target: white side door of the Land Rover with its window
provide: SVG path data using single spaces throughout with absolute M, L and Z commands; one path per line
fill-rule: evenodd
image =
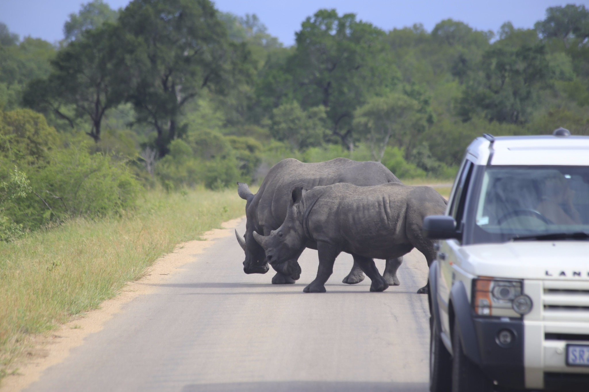
M 458 232 L 462 232 L 464 229 L 466 196 L 471 183 L 473 169 L 474 163 L 466 158 L 457 177 L 458 182 L 456 183 L 452 199 L 450 200 L 451 204 L 449 206 L 448 215 L 454 217 L 456 220 L 456 229 Z M 449 329 L 448 303 L 450 290 L 452 289 L 452 284 L 454 284 L 455 280 L 453 266 L 456 263 L 456 257 L 458 257 L 458 250 L 461 244 L 461 240 L 458 239 L 441 240 L 440 251 L 438 253 L 438 304 L 442 333 L 446 334 L 446 337 L 448 338 L 451 336 Z

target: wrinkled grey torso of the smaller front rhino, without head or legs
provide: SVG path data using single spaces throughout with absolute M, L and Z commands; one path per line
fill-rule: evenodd
M 306 225 L 314 240 L 376 259 L 408 252 L 423 217 L 445 208 L 434 189 L 401 183 L 318 187 L 303 202 L 305 208 L 312 206 Z

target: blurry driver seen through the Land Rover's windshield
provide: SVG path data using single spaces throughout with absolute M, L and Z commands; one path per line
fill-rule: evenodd
M 542 200 L 536 210 L 557 225 L 581 225 L 581 217 L 573 204 L 575 192 L 560 173 L 545 179 Z

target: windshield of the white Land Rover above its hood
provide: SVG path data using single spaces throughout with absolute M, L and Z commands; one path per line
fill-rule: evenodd
M 474 243 L 589 233 L 589 167 L 487 167 Z

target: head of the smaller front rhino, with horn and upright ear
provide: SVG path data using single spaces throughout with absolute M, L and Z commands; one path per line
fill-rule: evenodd
M 303 211 L 300 203 L 303 193 L 302 187 L 292 190 L 286 219 L 278 229 L 270 232 L 269 236 L 253 233 L 254 240 L 266 252 L 266 262 L 272 266 L 281 266 L 287 260 L 296 259 L 305 250 L 307 239 L 303 229 Z

